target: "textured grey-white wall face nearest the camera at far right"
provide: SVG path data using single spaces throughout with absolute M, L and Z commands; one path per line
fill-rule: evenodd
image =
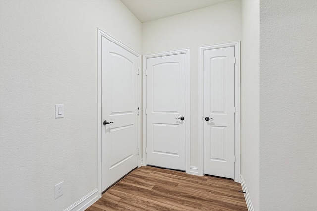
M 317 1 L 260 1 L 260 210 L 317 208 Z

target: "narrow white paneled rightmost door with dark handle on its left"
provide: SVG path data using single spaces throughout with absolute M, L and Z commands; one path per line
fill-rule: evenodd
M 204 174 L 234 178 L 234 47 L 205 50 Z

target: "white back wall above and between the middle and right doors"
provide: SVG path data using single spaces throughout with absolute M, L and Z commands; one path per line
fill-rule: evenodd
M 241 40 L 240 0 L 142 24 L 142 53 L 190 48 L 191 166 L 199 166 L 199 46 Z

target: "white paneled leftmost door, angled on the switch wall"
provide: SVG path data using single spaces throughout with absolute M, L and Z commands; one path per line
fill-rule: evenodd
M 103 191 L 138 165 L 138 57 L 101 39 Z

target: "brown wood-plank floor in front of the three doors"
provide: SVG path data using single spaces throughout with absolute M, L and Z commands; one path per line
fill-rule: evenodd
M 248 211 L 233 180 L 140 167 L 86 211 Z

